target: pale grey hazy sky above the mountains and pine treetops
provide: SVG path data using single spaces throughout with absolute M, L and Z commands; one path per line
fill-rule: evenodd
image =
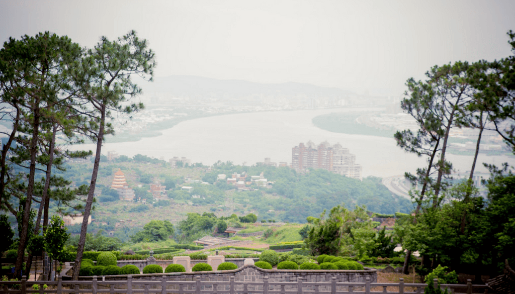
M 81 46 L 134 29 L 156 76 L 305 82 L 400 95 L 433 65 L 510 55 L 515 1 L 0 1 L 0 41 Z

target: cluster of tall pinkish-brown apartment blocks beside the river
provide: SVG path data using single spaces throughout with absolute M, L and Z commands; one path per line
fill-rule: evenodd
M 291 149 L 291 168 L 323 168 L 347 178 L 363 180 L 362 166 L 356 164 L 356 155 L 340 144 L 331 146 L 325 141 L 316 146 L 311 140 Z

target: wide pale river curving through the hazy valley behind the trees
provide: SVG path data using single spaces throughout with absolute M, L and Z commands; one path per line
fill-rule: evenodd
M 218 160 L 252 165 L 270 158 L 272 162 L 291 163 L 291 148 L 311 140 L 315 144 L 340 143 L 356 155 L 363 166 L 363 176 L 390 177 L 415 172 L 425 165 L 424 158 L 406 153 L 387 137 L 333 133 L 315 127 L 312 118 L 325 113 L 374 111 L 374 108 L 342 108 L 299 111 L 229 114 L 186 120 L 163 131 L 161 136 L 138 142 L 106 143 L 102 154 L 116 151 L 132 157 L 144 154 L 168 160 L 186 157 L 193 163 L 212 165 Z M 75 149 L 75 148 L 74 148 Z M 77 149 L 95 150 L 93 144 Z M 470 170 L 471 156 L 449 154 L 449 160 L 460 174 Z M 487 172 L 481 163 L 515 165 L 515 157 L 479 155 L 476 171 Z

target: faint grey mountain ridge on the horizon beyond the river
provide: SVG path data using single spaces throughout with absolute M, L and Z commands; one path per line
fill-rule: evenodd
M 198 76 L 173 75 L 157 77 L 154 82 L 144 84 L 144 92 L 169 93 L 178 96 L 228 95 L 242 97 L 251 95 L 306 96 L 311 98 L 343 98 L 352 94 L 337 88 L 318 87 L 312 84 L 287 82 L 280 84 L 256 83 L 244 80 L 218 80 Z

